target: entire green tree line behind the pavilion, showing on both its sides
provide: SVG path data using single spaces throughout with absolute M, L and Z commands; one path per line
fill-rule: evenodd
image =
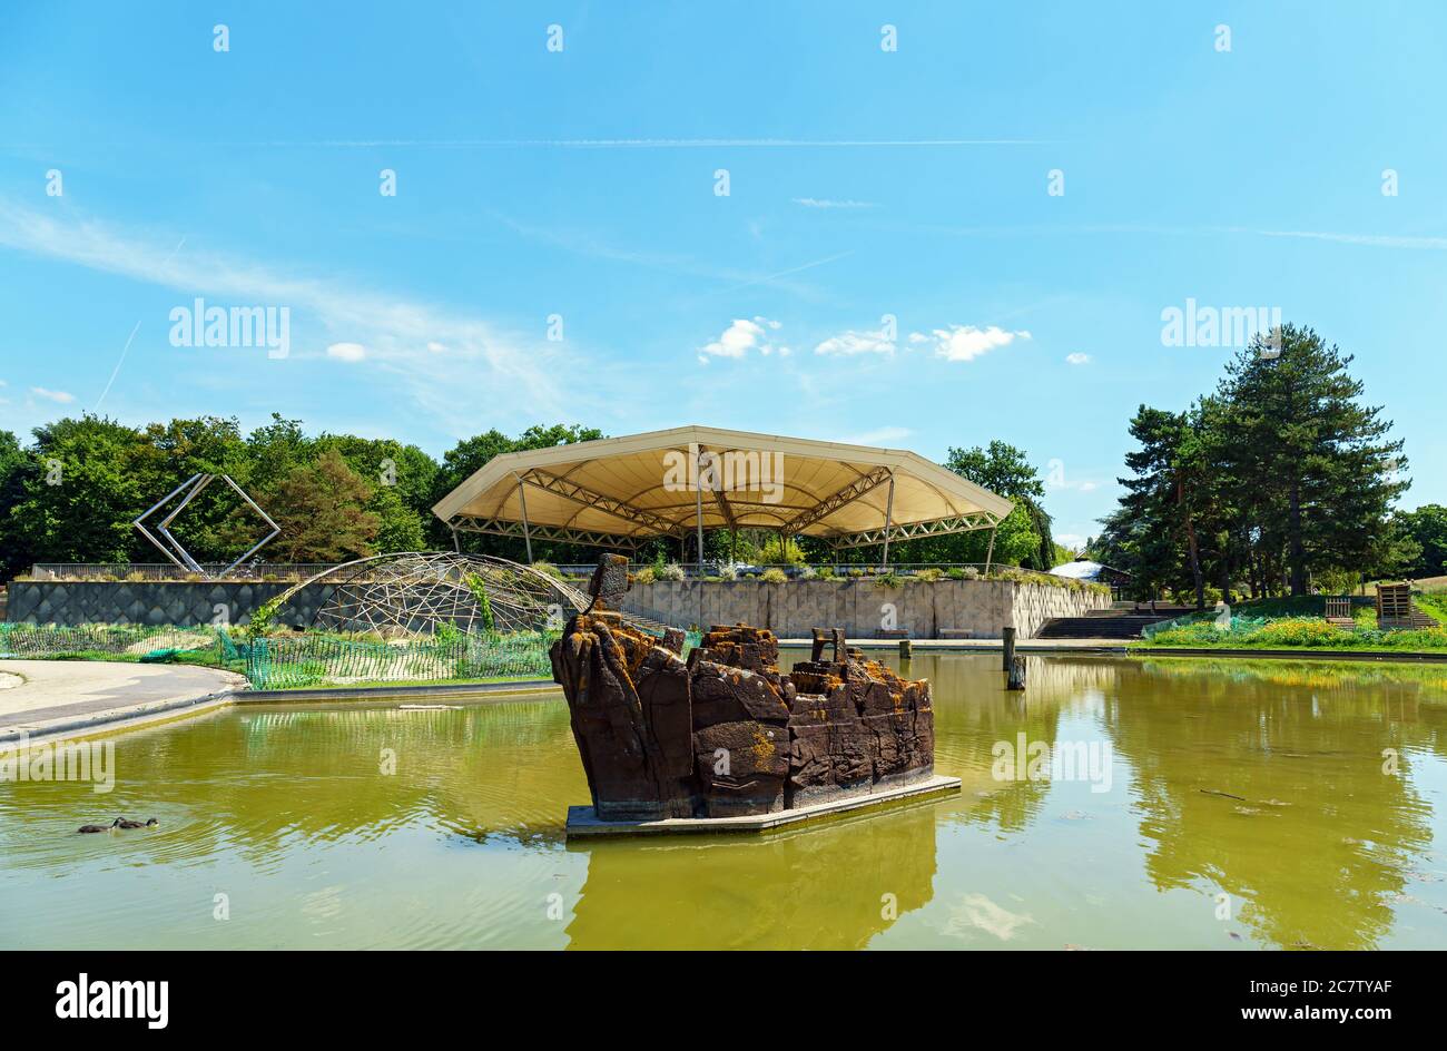
M 38 427 L 33 440 L 0 431 L 0 572 L 4 578 L 36 562 L 159 562 L 162 554 L 132 523 L 195 473 L 230 475 L 281 526 L 258 557 L 269 562 L 343 562 L 379 552 L 453 546 L 433 504 L 499 453 L 544 449 L 605 437 L 593 427 L 535 426 L 517 437 L 489 430 L 459 442 L 441 460 L 414 444 L 355 434 L 308 436 L 300 420 L 272 415 L 243 433 L 234 418 L 197 417 L 130 427 L 96 415 Z M 946 466 L 1011 497 L 991 557 L 1000 565 L 1048 569 L 1066 557 L 1051 539 L 1045 486 L 1023 452 L 1003 442 L 951 449 Z M 172 504 L 174 505 L 174 504 Z M 224 485 L 213 484 L 177 518 L 172 531 L 198 562 L 230 562 L 263 534 L 263 524 Z M 464 552 L 525 557 L 511 537 L 460 534 Z M 988 533 L 926 537 L 893 544 L 896 562 L 984 562 Z M 586 563 L 598 550 L 535 540 L 540 560 Z M 877 549 L 841 553 L 874 562 Z M 641 560 L 692 560 L 692 531 L 648 543 Z M 705 557 L 776 562 L 828 560 L 822 541 L 803 537 L 784 549 L 764 530 L 739 537 L 713 530 Z

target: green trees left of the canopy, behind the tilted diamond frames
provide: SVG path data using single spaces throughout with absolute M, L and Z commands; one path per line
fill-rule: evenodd
M 161 562 L 132 523 L 194 473 L 230 475 L 281 526 L 258 557 L 341 562 L 378 552 L 450 549 L 433 504 L 502 452 L 603 437 L 589 427 L 496 430 L 459 442 L 438 463 L 391 439 L 302 431 L 272 415 L 243 434 L 234 418 L 198 417 L 129 427 L 96 415 L 58 420 L 22 446 L 0 431 L 0 572 L 35 562 Z M 172 504 L 174 505 L 174 504 Z M 230 562 L 265 534 L 263 523 L 213 484 L 172 531 L 198 562 Z M 522 541 L 464 536 L 464 550 L 522 557 Z M 553 546 L 540 557 L 587 559 Z

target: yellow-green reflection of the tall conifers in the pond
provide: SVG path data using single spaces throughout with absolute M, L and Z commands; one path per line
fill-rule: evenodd
M 1441 685 L 1305 662 L 1159 660 L 1124 678 L 1104 718 L 1133 766 L 1152 882 L 1218 887 L 1273 945 L 1376 947 L 1434 858 L 1412 767 L 1440 747 Z

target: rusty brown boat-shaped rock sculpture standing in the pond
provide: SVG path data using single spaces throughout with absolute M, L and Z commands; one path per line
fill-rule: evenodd
M 622 596 L 612 563 L 592 591 L 551 657 L 601 819 L 770 814 L 933 774 L 929 683 L 838 628 L 816 628 L 787 675 L 773 633 L 745 624 L 712 628 L 684 663 L 680 633 L 658 640 L 606 608 Z

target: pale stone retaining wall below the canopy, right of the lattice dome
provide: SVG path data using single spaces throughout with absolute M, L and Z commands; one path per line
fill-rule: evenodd
M 699 588 L 703 589 L 702 621 Z M 658 581 L 635 583 L 624 607 L 670 624 L 752 624 L 780 638 L 807 638 L 816 627 L 841 627 L 854 638 L 998 638 L 1011 624 L 1032 638 L 1052 617 L 1079 617 L 1110 607 L 1091 591 L 1013 581 Z

